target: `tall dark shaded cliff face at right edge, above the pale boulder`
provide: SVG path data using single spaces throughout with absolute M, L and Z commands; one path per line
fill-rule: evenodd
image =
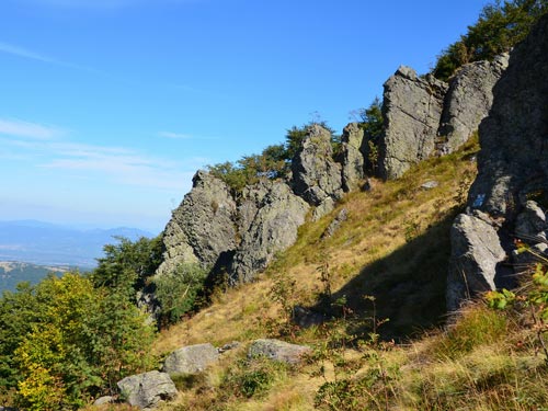
M 493 90 L 493 106 L 480 125 L 478 178 L 469 198 L 504 216 L 515 214 L 527 195 L 548 191 L 548 16 L 510 56 Z

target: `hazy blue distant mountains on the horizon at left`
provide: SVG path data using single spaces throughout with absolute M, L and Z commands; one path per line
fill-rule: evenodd
M 0 221 L 0 261 L 92 269 L 115 237 L 153 237 L 136 228 L 78 229 L 37 220 Z

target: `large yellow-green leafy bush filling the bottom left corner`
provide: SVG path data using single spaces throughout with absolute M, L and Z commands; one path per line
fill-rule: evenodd
M 153 334 L 140 311 L 78 273 L 4 294 L 0 323 L 2 383 L 23 409 L 78 409 L 151 364 Z

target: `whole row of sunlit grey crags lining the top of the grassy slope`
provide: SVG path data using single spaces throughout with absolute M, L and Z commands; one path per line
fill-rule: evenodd
M 380 175 L 398 178 L 413 163 L 464 144 L 487 115 L 491 89 L 505 61 L 500 57 L 467 65 L 449 83 L 400 67 L 385 84 Z M 341 142 L 334 159 L 330 132 L 310 126 L 292 161 L 290 176 L 264 178 L 244 187 L 238 198 L 220 179 L 198 171 L 165 227 L 157 275 L 182 263 L 198 263 L 228 274 L 232 285 L 252 281 L 297 240 L 307 218 L 326 216 L 345 192 L 364 184 L 366 170 L 373 169 L 364 130 L 357 123 L 349 124 Z

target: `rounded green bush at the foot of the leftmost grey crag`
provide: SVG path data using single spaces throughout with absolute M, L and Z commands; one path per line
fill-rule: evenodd
M 207 271 L 199 264 L 186 263 L 153 279 L 156 298 L 161 306 L 160 322 L 175 323 L 195 308 L 206 275 Z

